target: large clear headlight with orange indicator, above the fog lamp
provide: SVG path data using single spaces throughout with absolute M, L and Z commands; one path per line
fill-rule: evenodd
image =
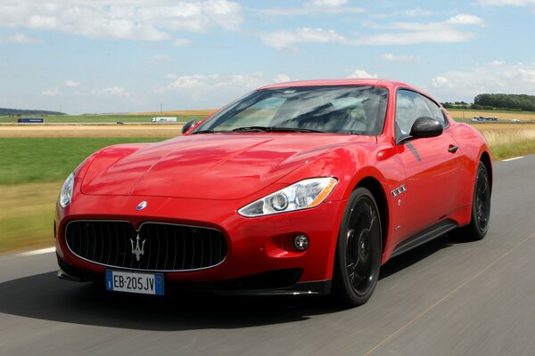
M 267 197 L 243 206 L 238 214 L 247 217 L 287 213 L 318 206 L 333 191 L 338 181 L 333 177 L 312 178 L 296 182 Z

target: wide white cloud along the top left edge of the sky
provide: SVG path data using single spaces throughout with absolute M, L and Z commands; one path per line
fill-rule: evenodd
M 229 0 L 195 2 L 159 0 L 4 0 L 0 27 L 60 30 L 71 35 L 160 41 L 175 31 L 235 30 L 242 19 L 240 4 Z

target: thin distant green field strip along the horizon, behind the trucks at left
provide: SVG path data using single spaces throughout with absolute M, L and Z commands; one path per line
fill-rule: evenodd
M 164 115 L 165 116 L 165 115 Z M 204 115 L 167 115 L 177 117 L 178 122 L 201 120 Z M 57 115 L 46 116 L 45 123 L 149 123 L 154 115 Z M 16 123 L 19 117 L 0 117 L 0 123 Z

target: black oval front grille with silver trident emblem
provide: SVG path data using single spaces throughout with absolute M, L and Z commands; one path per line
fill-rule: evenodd
M 209 268 L 226 257 L 220 231 L 170 223 L 75 221 L 65 230 L 74 255 L 111 267 L 142 271 L 191 271 Z

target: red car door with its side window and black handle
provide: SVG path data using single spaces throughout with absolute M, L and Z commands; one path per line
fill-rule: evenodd
M 443 133 L 402 141 L 417 117 L 438 119 Z M 400 235 L 407 238 L 439 223 L 451 212 L 459 182 L 459 152 L 440 107 L 420 93 L 405 89 L 396 93 L 395 125 L 399 158 L 407 177 L 405 190 L 397 197 L 406 204 Z

